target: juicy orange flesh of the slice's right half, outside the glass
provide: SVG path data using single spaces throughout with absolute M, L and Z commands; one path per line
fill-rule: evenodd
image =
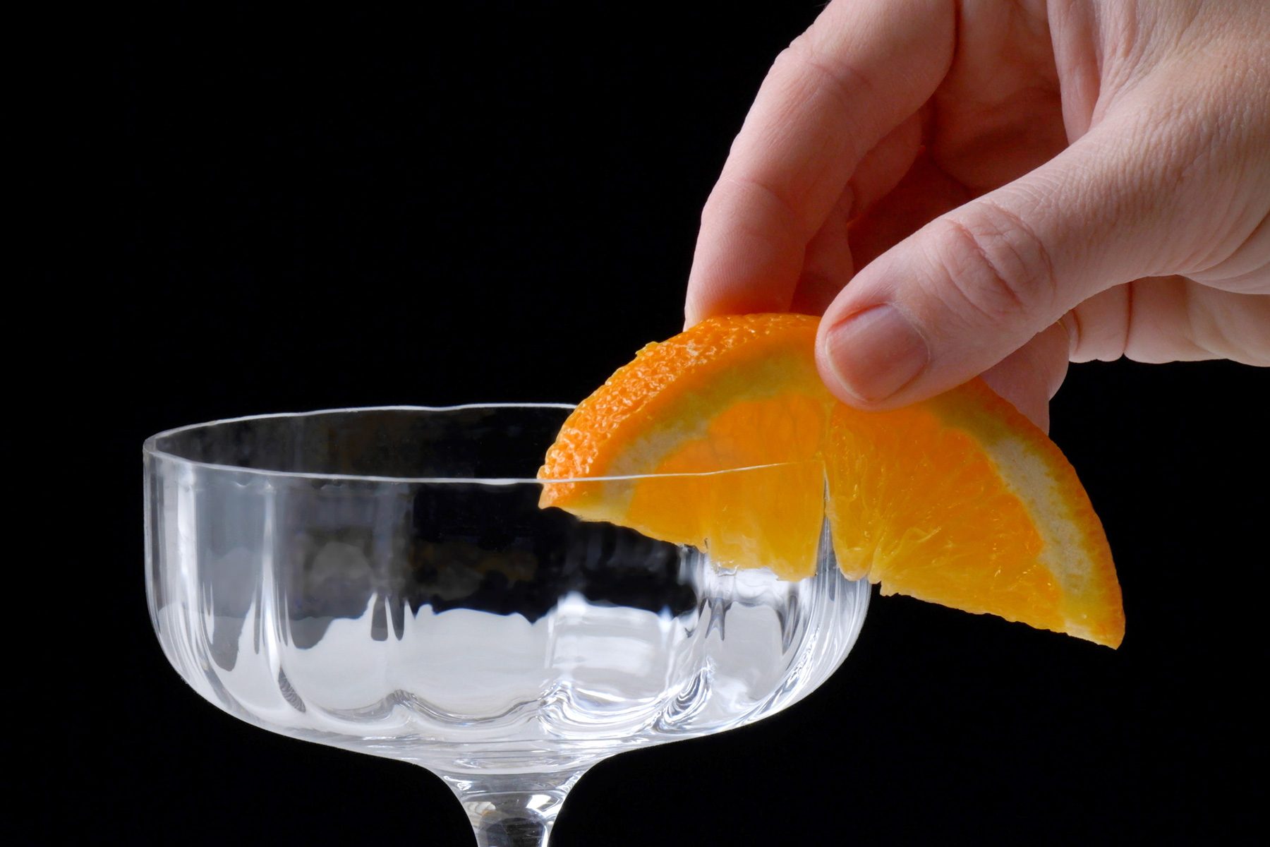
M 829 516 L 847 577 L 876 574 L 883 593 L 1010 620 L 1026 608 L 1033 626 L 1063 629 L 1040 533 L 977 442 L 930 409 L 842 413 L 834 424 Z

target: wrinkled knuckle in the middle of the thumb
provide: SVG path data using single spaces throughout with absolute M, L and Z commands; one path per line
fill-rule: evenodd
M 937 223 L 933 258 L 942 278 L 936 284 L 960 300 L 950 303 L 964 307 L 958 311 L 969 310 L 989 323 L 1052 312 L 1055 283 L 1044 243 L 1012 212 L 983 210 L 972 222 Z

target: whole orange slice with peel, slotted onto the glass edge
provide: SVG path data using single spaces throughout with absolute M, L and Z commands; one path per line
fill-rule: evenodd
M 982 381 L 859 411 L 823 386 L 818 319 L 716 317 L 641 349 L 569 417 L 541 504 L 710 552 L 815 570 L 1116 646 L 1102 526 L 1049 438 Z M 602 479 L 597 479 L 602 477 Z

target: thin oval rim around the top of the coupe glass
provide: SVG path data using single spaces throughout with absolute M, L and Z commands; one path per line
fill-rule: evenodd
M 177 436 L 179 433 L 189 432 L 193 429 L 207 429 L 211 427 L 218 427 L 221 424 L 241 423 L 245 420 L 268 420 L 276 418 L 310 418 L 316 415 L 329 415 L 339 413 L 358 413 L 358 411 L 458 411 L 462 409 L 568 409 L 573 410 L 577 405 L 572 403 L 464 403 L 452 406 L 420 406 L 420 405 L 386 405 L 386 406 L 343 406 L 331 409 L 312 409 L 310 411 L 271 411 L 265 414 L 257 415 L 239 415 L 236 418 L 217 418 L 216 420 L 204 420 L 202 423 L 185 424 L 183 427 L 173 427 L 171 429 L 164 429 L 163 432 L 156 432 L 145 439 L 141 446 L 141 452 L 144 456 L 152 456 L 155 458 L 166 460 L 182 465 L 188 465 L 190 467 L 203 467 L 215 471 L 227 471 L 234 474 L 248 474 L 253 476 L 263 477 L 278 477 L 278 479 L 297 479 L 297 480 L 324 480 L 324 481 L 343 481 L 343 483 L 396 483 L 396 484 L 476 484 L 476 485 L 563 485 L 566 483 L 620 483 L 629 480 L 643 480 L 643 479 L 674 479 L 674 477 L 693 477 L 693 476 L 721 476 L 724 474 L 742 474 L 745 471 L 763 470 L 767 467 L 784 467 L 789 465 L 800 465 L 805 462 L 768 462 L 763 465 L 747 465 L 744 467 L 726 467 L 718 471 L 676 471 L 672 474 L 621 474 L 612 476 L 569 476 L 569 477 L 552 477 L 552 479 L 540 479 L 537 476 L 528 477 L 516 477 L 516 476 L 384 476 L 375 474 L 321 474 L 314 471 L 274 471 L 262 467 L 244 467 L 241 465 L 227 465 L 224 462 L 204 462 L 196 458 L 187 458 L 185 456 L 179 456 L 177 453 L 160 450 L 157 443 L 160 438 L 166 438 L 169 436 Z M 544 456 L 545 458 L 545 456 Z

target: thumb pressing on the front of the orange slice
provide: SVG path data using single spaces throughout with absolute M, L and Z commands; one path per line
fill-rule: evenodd
M 1162 132 L 1148 116 L 1104 121 L 861 269 L 820 323 L 829 389 L 866 409 L 922 400 L 987 371 L 1099 291 L 1184 273 L 1209 255 L 1220 235 L 1206 221 L 1222 216 L 1204 208 L 1219 163 L 1198 155 L 1203 133 L 1162 137 L 1187 133 Z

